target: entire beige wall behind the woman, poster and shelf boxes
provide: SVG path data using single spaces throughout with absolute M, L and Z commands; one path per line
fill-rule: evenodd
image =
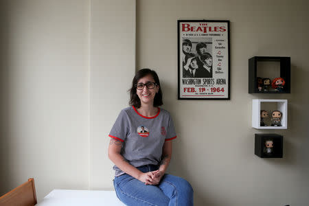
M 39 200 L 56 188 L 112 190 L 107 135 L 136 60 L 159 74 L 179 137 L 169 170 L 192 183 L 195 205 L 306 205 L 305 2 L 1 1 L 0 192 L 30 176 Z M 231 100 L 177 100 L 178 19 L 231 21 Z M 290 56 L 291 93 L 248 94 L 252 56 Z M 251 128 L 256 98 L 287 99 L 288 130 Z M 255 133 L 284 135 L 284 158 L 253 155 Z

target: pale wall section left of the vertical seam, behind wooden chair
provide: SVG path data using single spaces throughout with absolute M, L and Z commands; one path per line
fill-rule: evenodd
M 1 193 L 29 177 L 39 200 L 54 188 L 88 189 L 89 1 L 5 1 L 1 10 Z

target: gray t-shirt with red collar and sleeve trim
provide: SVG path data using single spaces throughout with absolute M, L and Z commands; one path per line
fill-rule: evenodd
M 165 141 L 176 138 L 170 113 L 163 108 L 155 117 L 144 117 L 134 106 L 124 108 L 116 119 L 109 137 L 124 142 L 121 154 L 135 168 L 158 165 Z M 124 174 L 114 165 L 115 176 Z

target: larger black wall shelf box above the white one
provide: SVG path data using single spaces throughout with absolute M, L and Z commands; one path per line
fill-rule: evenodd
M 286 82 L 283 91 L 258 90 L 258 62 L 279 62 L 280 78 Z M 264 77 L 267 78 L 267 77 Z M 249 59 L 249 93 L 290 93 L 290 57 L 279 56 L 254 56 Z

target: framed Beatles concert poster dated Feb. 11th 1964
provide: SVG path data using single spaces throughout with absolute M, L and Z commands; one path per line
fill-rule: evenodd
M 229 21 L 178 21 L 178 99 L 229 100 Z

